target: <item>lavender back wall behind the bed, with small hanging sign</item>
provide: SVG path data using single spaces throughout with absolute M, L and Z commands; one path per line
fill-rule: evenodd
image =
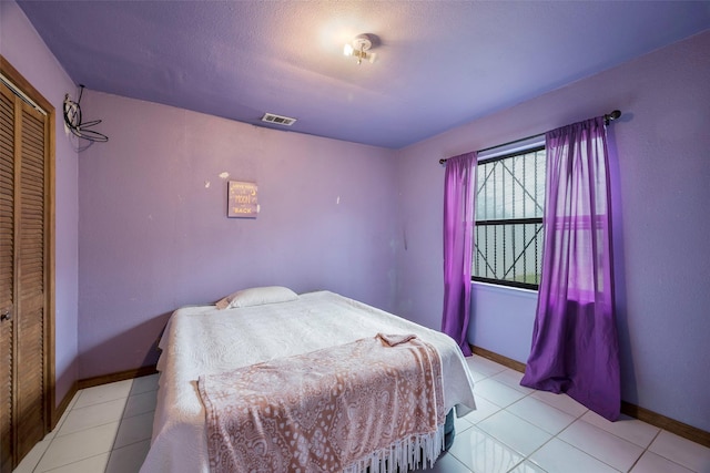
M 81 378 L 154 362 L 171 311 L 240 288 L 394 307 L 390 151 L 93 91 L 84 100 L 110 141 L 79 164 Z M 256 219 L 226 217 L 230 179 L 258 185 Z

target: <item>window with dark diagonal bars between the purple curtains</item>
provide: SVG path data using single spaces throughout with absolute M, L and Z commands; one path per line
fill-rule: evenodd
M 544 138 L 479 153 L 471 279 L 537 289 L 542 266 Z

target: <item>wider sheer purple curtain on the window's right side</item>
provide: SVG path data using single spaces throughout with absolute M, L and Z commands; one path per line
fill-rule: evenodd
M 621 388 L 605 122 L 564 126 L 545 140 L 542 276 L 520 384 L 566 392 L 613 421 Z

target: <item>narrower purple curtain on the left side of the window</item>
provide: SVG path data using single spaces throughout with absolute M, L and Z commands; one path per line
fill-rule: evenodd
M 470 265 L 474 246 L 476 152 L 446 160 L 444 177 L 444 313 L 442 331 L 465 356 L 470 317 Z

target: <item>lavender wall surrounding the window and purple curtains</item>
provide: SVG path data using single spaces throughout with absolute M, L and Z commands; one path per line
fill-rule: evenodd
M 709 83 L 710 32 L 704 32 L 400 150 L 396 310 L 439 325 L 444 169 L 438 158 L 620 109 L 623 116 L 610 130 L 622 398 L 710 431 Z M 469 340 L 525 362 L 535 305 L 520 307 L 519 294 L 504 292 L 475 289 Z

